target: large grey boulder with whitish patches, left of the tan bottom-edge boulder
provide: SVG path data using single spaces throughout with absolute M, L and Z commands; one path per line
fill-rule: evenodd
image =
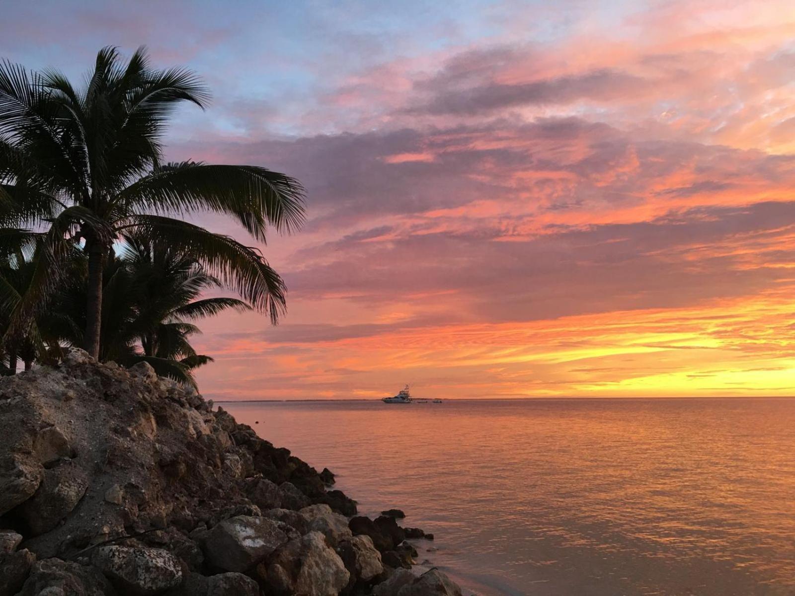
M 247 571 L 287 542 L 282 528 L 267 517 L 232 517 L 212 528 L 204 540 L 204 555 L 224 571 Z

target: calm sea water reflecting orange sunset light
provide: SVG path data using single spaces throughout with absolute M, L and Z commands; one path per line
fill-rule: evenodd
M 223 406 L 477 594 L 795 594 L 795 400 Z

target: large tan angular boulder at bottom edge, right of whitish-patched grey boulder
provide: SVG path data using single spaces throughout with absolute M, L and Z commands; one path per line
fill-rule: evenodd
M 274 591 L 302 596 L 337 596 L 351 578 L 320 532 L 290 540 L 257 571 Z

